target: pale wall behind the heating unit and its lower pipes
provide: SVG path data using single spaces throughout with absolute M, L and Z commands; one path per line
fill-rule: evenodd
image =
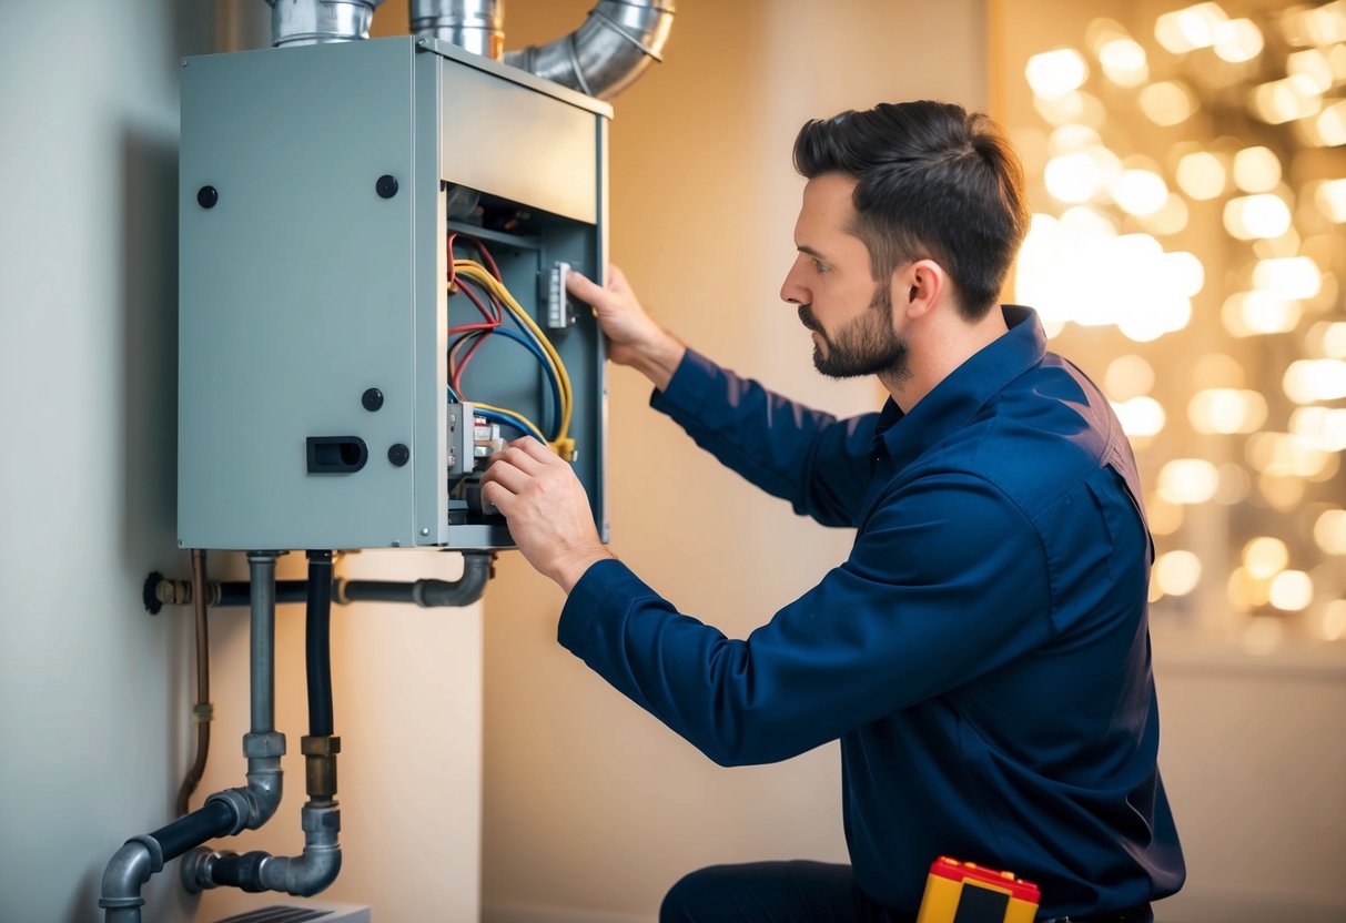
M 149 616 L 175 541 L 179 59 L 268 34 L 261 0 L 0 3 L 0 919 L 93 920 L 122 841 L 172 819 L 190 763 L 191 614 Z M 302 568 L 291 554 L 283 566 Z M 242 577 L 238 556 L 213 576 Z M 367 554 L 345 576 L 452 579 L 456 556 Z M 218 721 L 203 794 L 242 783 L 246 612 L 211 614 Z M 302 846 L 302 615 L 280 612 L 280 815 L 236 845 Z M 362 605 L 332 627 L 345 868 L 376 919 L 471 920 L 481 838 L 481 607 Z M 389 755 L 394 755 L 393 759 Z M 145 919 L 187 897 L 170 865 Z

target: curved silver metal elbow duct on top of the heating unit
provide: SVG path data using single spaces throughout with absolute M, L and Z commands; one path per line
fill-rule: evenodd
M 505 54 L 505 63 L 611 100 L 662 61 L 673 27 L 673 0 L 602 0 L 569 35 Z

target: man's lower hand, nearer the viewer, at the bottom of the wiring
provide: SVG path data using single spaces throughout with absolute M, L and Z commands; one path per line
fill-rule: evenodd
M 482 475 L 482 499 L 509 521 L 528 562 L 567 593 L 590 565 L 612 557 L 599 541 L 575 471 L 532 436 L 495 453 Z

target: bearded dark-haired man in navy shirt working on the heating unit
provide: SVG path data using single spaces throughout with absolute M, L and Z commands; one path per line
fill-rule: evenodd
M 1152 557 L 1106 400 L 997 307 L 1028 213 L 981 114 L 880 105 L 804 126 L 808 179 L 781 297 L 828 375 L 876 375 L 836 420 L 686 348 L 621 272 L 575 279 L 614 362 L 750 482 L 849 557 L 747 640 L 680 615 L 599 542 L 569 467 L 511 444 L 483 495 L 568 593 L 559 639 L 711 759 L 769 763 L 840 739 L 851 865 L 689 875 L 661 919 L 907 920 L 938 856 L 1011 869 L 1042 919 L 1143 922 L 1183 881 L 1156 767 Z

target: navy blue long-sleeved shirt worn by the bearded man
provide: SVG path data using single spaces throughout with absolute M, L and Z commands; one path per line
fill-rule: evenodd
M 1036 316 L 910 413 L 837 420 L 688 351 L 653 405 L 849 557 L 747 640 L 618 561 L 561 644 L 724 766 L 841 741 L 856 881 L 900 911 L 940 854 L 1011 869 L 1042 915 L 1167 896 L 1184 871 L 1159 779 L 1149 537 L 1135 459 Z

